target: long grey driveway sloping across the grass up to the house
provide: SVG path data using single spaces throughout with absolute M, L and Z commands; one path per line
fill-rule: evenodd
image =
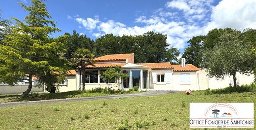
M 111 99 L 111 98 L 155 96 L 155 95 L 169 94 L 169 93 L 175 93 L 175 92 L 176 91 L 147 91 L 147 92 L 133 93 L 133 94 L 108 95 L 108 96 L 97 96 L 97 97 L 65 98 L 65 99 L 51 99 L 51 100 L 27 101 L 27 102 L 9 102 L 9 103 L 0 104 L 0 107 L 45 104 L 45 103 L 56 103 L 56 102 L 86 101 L 86 100 L 97 100 L 97 99 Z

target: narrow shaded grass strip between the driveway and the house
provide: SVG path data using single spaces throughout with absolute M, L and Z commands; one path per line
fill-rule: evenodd
M 78 97 L 95 97 L 95 96 L 106 96 L 113 94 L 128 94 L 138 93 L 138 91 L 115 91 L 114 93 L 103 93 L 87 90 L 82 91 L 69 91 L 61 93 L 30 93 L 28 97 L 22 98 L 22 94 L 4 94 L 0 95 L 0 103 L 6 102 L 20 102 L 20 101 L 38 101 L 38 100 L 49 100 L 49 99 L 64 99 L 64 98 L 78 98 Z

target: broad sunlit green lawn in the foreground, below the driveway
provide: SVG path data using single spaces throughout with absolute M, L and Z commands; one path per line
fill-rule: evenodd
M 196 91 L 185 95 L 179 92 L 149 97 L 2 107 L 0 129 L 184 130 L 189 129 L 190 102 L 256 102 L 256 94 L 251 92 L 204 93 Z M 256 121 L 256 106 L 254 111 Z

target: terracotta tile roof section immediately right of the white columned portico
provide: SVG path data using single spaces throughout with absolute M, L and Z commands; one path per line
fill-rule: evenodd
M 161 63 L 136 63 L 138 65 L 148 66 L 152 69 L 171 69 L 173 68 L 169 62 L 161 62 Z

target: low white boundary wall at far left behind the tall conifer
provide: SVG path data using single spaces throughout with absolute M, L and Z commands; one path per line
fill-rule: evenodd
M 28 89 L 28 85 L 15 85 L 15 86 L 9 86 L 9 85 L 0 85 L 0 94 L 14 94 L 14 93 L 23 93 Z M 35 85 L 32 85 L 32 92 L 42 92 L 43 88 L 35 87 Z

